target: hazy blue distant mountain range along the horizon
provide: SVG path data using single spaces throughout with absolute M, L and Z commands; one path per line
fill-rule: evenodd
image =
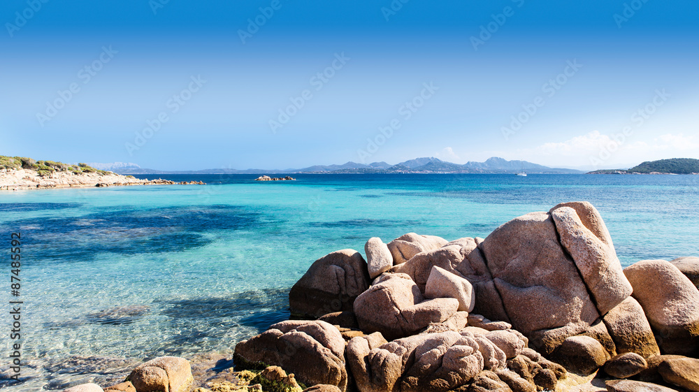
M 266 169 L 204 169 L 204 170 L 153 170 L 140 168 L 135 164 L 99 164 L 103 170 L 112 170 L 118 174 L 274 174 L 274 173 L 491 173 L 514 174 L 524 170 L 527 173 L 540 174 L 582 174 L 580 170 L 567 168 L 549 168 L 527 161 L 507 161 L 506 159 L 492 157 L 484 162 L 469 161 L 466 164 L 452 164 L 434 157 L 416 158 L 400 164 L 391 165 L 386 162 L 373 162 L 372 164 L 358 164 L 349 161 L 343 165 L 315 165 L 300 169 L 266 170 Z M 96 166 L 97 164 L 91 164 Z M 113 165 L 113 166 L 110 166 Z

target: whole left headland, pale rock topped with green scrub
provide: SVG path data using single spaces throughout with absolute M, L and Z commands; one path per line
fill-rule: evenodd
M 106 170 L 98 170 L 87 164 L 64 164 L 55 161 L 36 161 L 26 157 L 0 155 L 0 190 L 3 191 L 175 184 L 203 185 L 204 183 L 201 181 L 174 182 L 161 178 L 141 180 L 133 175 L 119 175 Z

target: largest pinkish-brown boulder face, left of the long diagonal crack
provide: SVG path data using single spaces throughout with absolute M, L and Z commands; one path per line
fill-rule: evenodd
M 546 212 L 512 219 L 480 247 L 513 328 L 530 339 L 563 327 L 577 334 L 600 317 Z

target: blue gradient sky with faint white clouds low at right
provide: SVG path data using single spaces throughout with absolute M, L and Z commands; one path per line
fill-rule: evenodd
M 698 17 L 690 0 L 4 0 L 0 154 L 699 158 Z

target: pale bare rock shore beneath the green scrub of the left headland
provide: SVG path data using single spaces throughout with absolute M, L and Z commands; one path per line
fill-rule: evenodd
M 204 182 L 174 182 L 171 180 L 140 180 L 134 176 L 119 175 L 112 172 L 73 173 L 71 171 L 53 172 L 41 175 L 31 169 L 1 169 L 0 191 L 19 191 L 26 189 L 87 188 L 87 187 L 124 187 L 129 185 L 204 185 Z

